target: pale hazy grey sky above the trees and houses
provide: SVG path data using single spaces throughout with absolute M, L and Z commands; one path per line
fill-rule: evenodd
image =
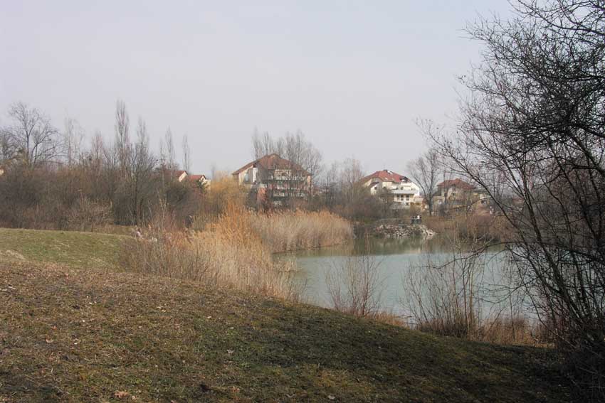
M 254 129 L 302 131 L 326 163 L 406 173 L 417 117 L 456 116 L 456 77 L 478 62 L 462 28 L 505 0 L 0 0 L 0 124 L 23 101 L 59 129 L 112 139 L 115 102 L 152 146 L 189 136 L 194 173 L 251 160 Z M 180 149 L 179 149 L 180 150 Z

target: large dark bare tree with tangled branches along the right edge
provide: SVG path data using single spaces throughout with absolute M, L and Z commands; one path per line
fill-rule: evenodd
M 519 283 L 577 382 L 602 399 L 605 6 L 523 1 L 517 13 L 469 28 L 483 64 L 463 77 L 460 131 L 435 140 L 506 218 Z

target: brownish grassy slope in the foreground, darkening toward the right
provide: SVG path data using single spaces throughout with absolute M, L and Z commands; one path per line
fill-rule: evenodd
M 549 358 L 172 279 L 0 262 L 0 402 L 567 401 Z

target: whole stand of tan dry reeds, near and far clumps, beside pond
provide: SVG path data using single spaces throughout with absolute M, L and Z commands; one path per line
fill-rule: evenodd
M 171 230 L 161 222 L 152 226 L 145 239 L 125 246 L 122 262 L 136 272 L 297 300 L 302 289 L 293 276 L 294 262 L 275 261 L 272 252 L 351 238 L 347 221 L 330 213 L 263 215 L 228 205 L 201 231 Z

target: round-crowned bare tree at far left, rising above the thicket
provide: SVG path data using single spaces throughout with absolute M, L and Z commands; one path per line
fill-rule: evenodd
M 6 139 L 6 144 L 12 144 L 16 156 L 26 166 L 33 168 L 56 160 L 60 142 L 58 130 L 51 124 L 51 119 L 23 102 L 9 107 L 9 117 L 14 124 L 2 129 L 3 138 Z

